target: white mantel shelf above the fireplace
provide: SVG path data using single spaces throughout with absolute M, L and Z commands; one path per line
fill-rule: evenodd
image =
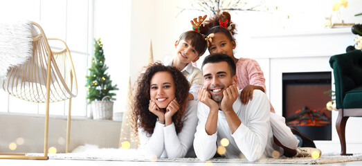
M 237 38 L 237 56 L 253 59 L 330 57 L 345 53 L 354 45 L 351 28 L 320 30 L 289 30 L 268 34 L 240 35 Z

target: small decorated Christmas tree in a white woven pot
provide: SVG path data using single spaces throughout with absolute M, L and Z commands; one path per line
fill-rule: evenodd
M 113 97 L 118 90 L 117 84 L 112 85 L 111 77 L 106 73 L 105 54 L 100 38 L 94 39 L 94 57 L 92 57 L 89 75 L 87 75 L 87 100 L 91 103 L 93 119 L 111 120 L 113 116 Z

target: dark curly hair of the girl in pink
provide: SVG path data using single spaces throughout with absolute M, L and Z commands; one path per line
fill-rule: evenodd
M 230 27 L 230 30 L 220 26 L 219 20 L 226 20 L 226 26 Z M 203 21 L 203 28 L 200 28 L 203 31 L 203 34 L 210 35 L 210 33 L 224 33 L 230 41 L 235 41 L 233 35 L 236 34 L 236 27 L 231 21 L 230 13 L 228 12 L 217 12 L 215 17 L 210 17 L 210 19 Z

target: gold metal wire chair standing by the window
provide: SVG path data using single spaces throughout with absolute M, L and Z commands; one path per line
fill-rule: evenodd
M 77 78 L 71 59 L 71 52 L 61 39 L 46 38 L 39 24 L 30 22 L 39 32 L 33 36 L 31 57 L 24 64 L 8 70 L 3 89 L 10 95 L 30 102 L 46 103 L 44 156 L 26 154 L 0 154 L 0 158 L 10 159 L 48 159 L 48 121 L 49 103 L 69 99 L 69 112 L 66 129 L 66 153 L 69 152 L 71 130 L 71 98 L 78 93 Z M 64 49 L 51 50 L 48 40 L 60 41 Z

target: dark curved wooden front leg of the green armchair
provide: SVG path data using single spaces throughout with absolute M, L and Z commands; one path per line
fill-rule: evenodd
M 336 121 L 336 129 L 339 137 L 339 141 L 341 142 L 341 155 L 346 155 L 346 147 L 345 147 L 345 124 L 347 123 L 348 116 L 343 117 L 343 109 L 339 109 L 338 118 Z

